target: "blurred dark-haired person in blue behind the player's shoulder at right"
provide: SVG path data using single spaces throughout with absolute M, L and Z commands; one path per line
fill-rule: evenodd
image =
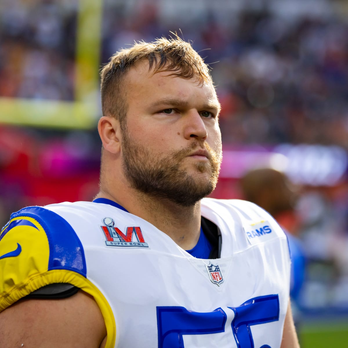
M 292 304 L 299 303 L 305 279 L 306 257 L 299 238 L 300 223 L 295 207 L 298 200 L 296 188 L 288 177 L 272 168 L 248 171 L 240 180 L 243 197 L 268 211 L 283 228 L 289 242 L 291 254 L 290 296 Z M 294 309 L 295 324 L 299 316 Z

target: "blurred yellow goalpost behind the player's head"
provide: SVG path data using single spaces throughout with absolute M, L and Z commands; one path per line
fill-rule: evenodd
M 0 97 L 0 124 L 79 129 L 95 125 L 102 3 L 79 0 L 74 101 Z

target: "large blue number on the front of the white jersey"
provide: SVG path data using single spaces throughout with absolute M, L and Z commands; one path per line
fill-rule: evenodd
M 250 326 L 279 320 L 278 295 L 254 297 L 239 307 L 228 308 L 235 314 L 231 327 L 238 348 L 254 348 Z M 184 348 L 183 335 L 224 332 L 226 320 L 221 308 L 199 313 L 184 307 L 157 307 L 158 347 Z

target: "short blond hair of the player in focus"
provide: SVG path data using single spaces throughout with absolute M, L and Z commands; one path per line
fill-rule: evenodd
M 110 58 L 101 70 L 101 97 L 103 115 L 110 115 L 126 124 L 128 105 L 124 81 L 129 69 L 137 62 L 147 60 L 153 73 L 172 71 L 173 76 L 184 79 L 197 78 L 200 83 L 212 83 L 210 69 L 203 58 L 176 34 L 174 38 L 160 38 L 153 42 L 136 42 L 132 47 L 121 49 Z

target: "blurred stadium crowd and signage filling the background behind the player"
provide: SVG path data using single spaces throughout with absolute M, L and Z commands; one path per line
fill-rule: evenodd
M 81 3 L 1 1 L 0 102 L 76 99 Z M 285 174 L 271 187 L 278 182 L 271 172 L 253 172 L 247 187 L 262 196 L 260 205 L 291 200 L 274 216 L 303 256 L 299 317 L 348 316 L 347 14 L 345 0 L 105 0 L 98 33 L 95 71 L 134 40 L 170 31 L 191 40 L 210 65 L 224 149 L 213 197 L 248 198 L 242 183 L 255 169 Z M 86 98 L 98 93 L 96 84 Z M 2 112 L 0 222 L 25 205 L 93 198 L 101 147 L 95 127 L 13 126 L 1 124 Z

